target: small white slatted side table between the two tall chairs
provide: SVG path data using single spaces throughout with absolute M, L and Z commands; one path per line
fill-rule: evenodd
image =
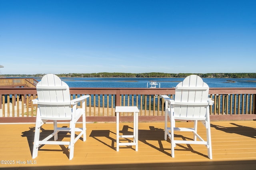
M 119 113 L 120 112 L 133 112 L 133 135 L 119 135 Z M 138 112 L 136 106 L 116 106 L 116 151 L 119 151 L 119 146 L 132 146 L 135 145 L 135 150 L 138 151 Z M 133 142 L 119 143 L 119 138 L 133 138 Z

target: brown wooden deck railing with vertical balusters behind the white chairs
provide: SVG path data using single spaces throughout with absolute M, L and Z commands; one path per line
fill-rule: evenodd
M 174 98 L 174 88 L 70 88 L 71 98 L 90 95 L 86 100 L 87 117 L 114 117 L 116 106 L 137 106 L 139 115 L 164 116 L 164 100 L 160 95 Z M 256 88 L 210 88 L 209 97 L 214 100 L 210 115 L 214 119 L 255 119 Z M 0 87 L 0 117 L 35 117 L 37 106 L 32 99 L 37 98 L 36 88 Z M 122 113 L 120 116 L 129 116 Z M 222 115 L 220 117 L 220 115 Z M 226 115 L 226 116 L 223 116 Z M 99 118 L 100 117 L 100 118 Z M 218 117 L 218 118 L 217 118 Z

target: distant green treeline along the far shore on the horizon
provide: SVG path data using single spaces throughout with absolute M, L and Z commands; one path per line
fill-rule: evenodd
M 141 77 L 141 78 L 172 78 L 186 77 L 196 74 L 202 78 L 256 78 L 256 73 L 122 73 L 122 72 L 99 72 L 99 73 L 68 73 L 56 74 L 59 77 Z M 2 77 L 42 77 L 45 74 L 2 74 Z

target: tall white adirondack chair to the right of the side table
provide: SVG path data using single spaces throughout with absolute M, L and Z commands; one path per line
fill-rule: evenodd
M 202 144 L 208 149 L 208 157 L 212 159 L 212 144 L 210 132 L 210 113 L 209 105 L 213 104 L 211 98 L 208 98 L 209 86 L 203 82 L 202 78 L 196 75 L 186 77 L 175 88 L 174 100 L 166 95 L 162 95 L 165 100 L 165 132 L 164 139 L 167 135 L 171 140 L 172 157 L 174 157 L 174 147 L 176 143 L 180 144 Z M 170 127 L 168 125 L 170 118 Z M 175 126 L 175 120 L 194 121 L 193 128 L 182 128 Z M 206 127 L 207 141 L 204 141 L 197 133 L 197 122 L 202 121 Z M 174 131 L 190 131 L 194 133 L 192 140 L 175 140 Z M 197 140 L 197 137 L 199 140 Z

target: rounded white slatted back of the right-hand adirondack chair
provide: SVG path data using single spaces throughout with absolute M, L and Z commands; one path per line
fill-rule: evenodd
M 186 77 L 175 88 L 174 117 L 206 119 L 209 86 L 196 75 Z

